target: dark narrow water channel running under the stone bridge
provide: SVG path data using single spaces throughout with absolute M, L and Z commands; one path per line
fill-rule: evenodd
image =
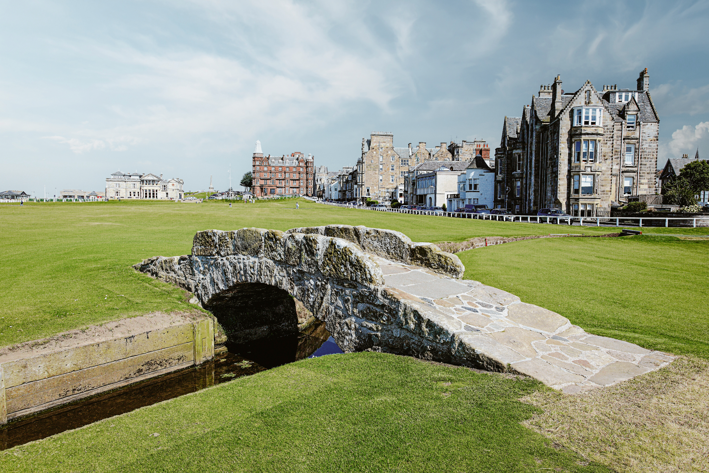
M 180 369 L 10 421 L 0 429 L 0 450 L 303 358 L 342 353 L 323 325 L 308 330 L 311 335 L 301 333 L 228 345 L 227 352 L 199 367 Z

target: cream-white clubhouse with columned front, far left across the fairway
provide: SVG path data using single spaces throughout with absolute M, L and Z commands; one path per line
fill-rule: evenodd
M 184 181 L 179 177 L 163 179 L 162 174 L 121 172 L 106 178 L 106 199 L 181 200 Z

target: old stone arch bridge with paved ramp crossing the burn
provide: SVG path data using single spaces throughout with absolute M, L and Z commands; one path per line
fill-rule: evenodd
M 457 256 L 393 230 L 205 230 L 191 255 L 152 257 L 135 269 L 194 293 L 235 342 L 296 331 L 302 304 L 345 352 L 527 374 L 568 393 L 672 360 L 462 279 Z

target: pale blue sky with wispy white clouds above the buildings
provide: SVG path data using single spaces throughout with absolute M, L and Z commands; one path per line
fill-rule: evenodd
M 362 138 L 500 143 L 540 84 L 635 89 L 658 166 L 709 154 L 709 0 L 0 0 L 0 190 L 111 172 L 238 187 L 264 153 L 353 165 Z

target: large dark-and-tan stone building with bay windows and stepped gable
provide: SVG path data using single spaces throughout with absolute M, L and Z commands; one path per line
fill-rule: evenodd
M 557 76 L 522 116 L 505 117 L 495 150 L 495 206 L 608 216 L 613 204 L 655 193 L 658 136 L 647 69 L 635 89 L 597 91 L 586 81 L 564 92 Z

